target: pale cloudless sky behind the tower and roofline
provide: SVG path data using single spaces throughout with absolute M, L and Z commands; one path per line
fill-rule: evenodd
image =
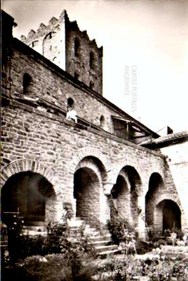
M 187 130 L 188 1 L 3 0 L 18 39 L 63 9 L 103 46 L 103 96 L 158 132 Z M 160 131 L 159 131 L 160 134 Z

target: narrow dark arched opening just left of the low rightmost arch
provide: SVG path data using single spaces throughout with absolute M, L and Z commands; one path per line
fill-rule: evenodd
M 160 195 L 160 192 L 164 190 L 164 184 L 162 177 L 158 173 L 153 173 L 149 180 L 149 189 L 145 197 L 146 206 L 146 223 L 148 226 L 154 226 L 154 207 L 155 200 Z

